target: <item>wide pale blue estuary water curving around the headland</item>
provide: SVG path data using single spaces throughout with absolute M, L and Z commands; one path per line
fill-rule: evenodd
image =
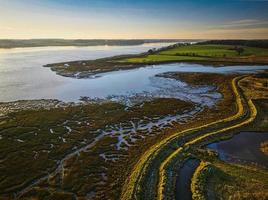
M 167 97 L 212 106 L 220 94 L 211 86 L 190 87 L 174 79 L 156 77 L 165 72 L 248 73 L 268 66 L 212 67 L 198 64 L 163 64 L 99 74 L 91 79 L 56 75 L 48 63 L 147 51 L 167 44 L 124 47 L 42 47 L 0 50 L 0 102 L 22 99 L 78 101 L 81 96 L 129 101 L 137 97 Z

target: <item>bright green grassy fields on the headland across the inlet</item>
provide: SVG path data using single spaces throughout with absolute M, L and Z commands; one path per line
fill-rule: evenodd
M 243 52 L 238 53 L 237 48 L 242 48 Z M 172 49 L 151 53 L 149 55 L 123 59 L 122 62 L 130 63 L 150 63 L 167 61 L 238 61 L 237 59 L 247 59 L 258 57 L 259 61 L 264 61 L 268 57 L 268 49 L 232 46 L 232 45 L 185 45 Z M 234 60 L 235 59 L 235 60 Z

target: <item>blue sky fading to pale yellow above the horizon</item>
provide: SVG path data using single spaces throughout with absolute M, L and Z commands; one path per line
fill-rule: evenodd
M 268 0 L 0 0 L 0 38 L 268 39 Z

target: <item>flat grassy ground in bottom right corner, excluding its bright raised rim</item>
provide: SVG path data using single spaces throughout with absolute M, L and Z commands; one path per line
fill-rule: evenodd
M 267 171 L 220 161 L 213 164 L 216 170 L 206 187 L 216 199 L 267 199 Z

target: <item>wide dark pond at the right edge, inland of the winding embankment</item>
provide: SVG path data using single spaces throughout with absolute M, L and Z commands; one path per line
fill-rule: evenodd
M 229 140 L 212 143 L 207 147 L 217 151 L 223 161 L 268 168 L 268 156 L 260 150 L 261 143 L 267 140 L 267 132 L 241 132 Z

